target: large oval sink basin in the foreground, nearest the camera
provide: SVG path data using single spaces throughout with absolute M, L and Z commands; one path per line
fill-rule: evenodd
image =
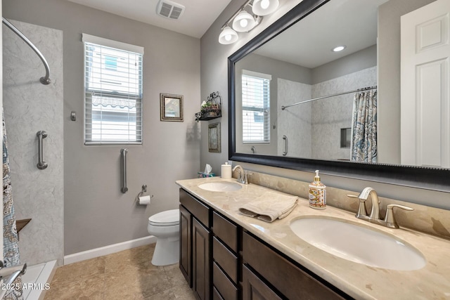
M 290 223 L 295 235 L 342 259 L 390 270 L 418 270 L 425 258 L 392 235 L 338 219 L 303 218 Z

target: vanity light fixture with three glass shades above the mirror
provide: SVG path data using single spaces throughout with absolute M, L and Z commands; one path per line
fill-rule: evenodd
M 262 15 L 269 15 L 278 8 L 278 0 L 248 0 L 221 27 L 220 44 L 233 44 L 238 41 L 238 32 L 249 32 L 262 20 Z M 251 11 L 248 7 L 252 8 Z M 230 27 L 231 24 L 231 28 Z

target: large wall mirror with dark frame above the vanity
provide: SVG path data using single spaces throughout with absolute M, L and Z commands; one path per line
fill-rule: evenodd
M 417 78 L 401 77 L 411 55 L 400 16 L 432 2 L 304 0 L 233 53 L 230 159 L 450 192 L 445 66 L 420 63 L 427 66 L 420 74 L 440 70 L 440 85 L 439 78 L 415 86 Z M 401 22 L 425 24 L 416 31 L 428 50 L 448 44 L 449 20 L 439 18 Z M 416 52 L 416 37 L 410 44 Z

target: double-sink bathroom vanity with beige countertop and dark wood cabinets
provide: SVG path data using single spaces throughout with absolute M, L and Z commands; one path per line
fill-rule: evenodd
M 236 190 L 205 190 L 203 183 L 233 183 Z M 180 188 L 179 266 L 198 299 L 444 299 L 450 292 L 450 241 L 409 229 L 382 228 L 300 198 L 287 217 L 267 223 L 238 208 L 267 191 L 236 179 L 176 181 Z M 366 266 L 325 252 L 297 237 L 290 224 L 320 216 L 392 235 L 423 255 L 418 270 Z M 314 230 L 314 228 L 311 228 Z M 367 249 L 371 252 L 373 249 Z

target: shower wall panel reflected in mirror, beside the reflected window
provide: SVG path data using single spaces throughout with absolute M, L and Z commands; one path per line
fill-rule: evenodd
M 278 155 L 285 151 L 283 136 L 288 137 L 289 157 L 311 157 L 311 103 L 290 105 L 311 98 L 311 85 L 278 79 Z

